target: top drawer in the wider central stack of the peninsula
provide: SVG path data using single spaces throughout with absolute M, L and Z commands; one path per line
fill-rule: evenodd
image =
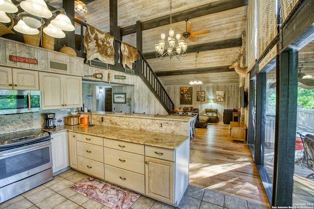
M 104 138 L 104 147 L 144 155 L 144 145 Z

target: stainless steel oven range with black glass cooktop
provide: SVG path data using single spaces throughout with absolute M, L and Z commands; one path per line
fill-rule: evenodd
M 0 203 L 52 180 L 50 139 L 42 129 L 0 135 Z

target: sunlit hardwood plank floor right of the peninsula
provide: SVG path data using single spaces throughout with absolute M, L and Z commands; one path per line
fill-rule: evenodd
M 232 142 L 229 124 L 222 121 L 196 129 L 189 184 L 270 207 L 249 147 Z

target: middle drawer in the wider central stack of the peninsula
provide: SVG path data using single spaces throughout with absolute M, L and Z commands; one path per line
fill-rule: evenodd
M 104 147 L 104 162 L 136 173 L 145 173 L 144 156 Z

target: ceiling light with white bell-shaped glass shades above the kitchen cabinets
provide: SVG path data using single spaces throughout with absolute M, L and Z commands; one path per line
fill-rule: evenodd
M 85 4 L 84 4 L 85 5 Z M 55 19 L 53 19 L 47 27 L 43 29 L 44 33 L 54 38 L 64 38 L 64 31 L 73 31 L 74 25 L 65 15 L 64 10 L 50 11 L 44 0 L 24 0 L 20 2 L 20 7 L 25 11 L 18 14 L 19 22 L 13 27 L 17 32 L 35 35 L 41 32 L 41 27 L 45 23 L 43 18 L 52 18 L 52 13 L 59 11 Z M 9 23 L 9 18 L 5 13 L 16 13 L 18 8 L 11 0 L 0 0 L 0 22 Z M 9 18 L 10 19 L 10 18 Z M 37 29 L 40 27 L 40 30 Z

